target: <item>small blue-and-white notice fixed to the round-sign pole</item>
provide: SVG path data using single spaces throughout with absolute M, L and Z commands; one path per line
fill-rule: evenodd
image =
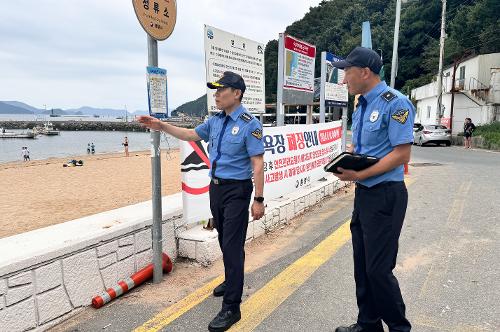
M 157 67 L 147 67 L 149 114 L 156 118 L 167 118 L 167 71 Z

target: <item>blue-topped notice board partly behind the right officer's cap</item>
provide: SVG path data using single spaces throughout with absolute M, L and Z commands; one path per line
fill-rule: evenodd
M 325 106 L 347 106 L 347 84 L 342 84 L 345 73 L 342 69 L 333 67 L 333 62 L 341 58 L 332 53 L 326 53 Z

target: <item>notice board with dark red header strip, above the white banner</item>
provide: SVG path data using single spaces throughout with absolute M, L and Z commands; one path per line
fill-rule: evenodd
M 316 46 L 285 35 L 283 88 L 314 92 Z

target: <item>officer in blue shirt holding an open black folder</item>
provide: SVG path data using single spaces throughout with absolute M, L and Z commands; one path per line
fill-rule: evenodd
M 415 109 L 407 97 L 390 88 L 378 75 L 382 61 L 367 48 L 356 47 L 345 60 L 350 94 L 360 94 L 352 117 L 350 152 L 380 158 L 359 172 L 341 169 L 338 177 L 356 181 L 351 220 L 357 322 L 336 332 L 410 331 L 405 304 L 393 274 L 398 239 L 408 204 L 403 165 L 410 160 Z

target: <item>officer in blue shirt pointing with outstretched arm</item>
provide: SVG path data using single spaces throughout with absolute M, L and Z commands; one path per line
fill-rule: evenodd
M 226 331 L 241 319 L 245 239 L 249 204 L 255 183 L 251 213 L 254 220 L 264 215 L 264 145 L 262 124 L 241 105 L 246 86 L 243 78 L 227 71 L 217 82 L 215 103 L 221 112 L 195 129 L 175 127 L 158 119 L 142 116 L 138 121 L 185 141 L 209 143 L 210 210 L 219 234 L 225 282 L 214 290 L 224 296 L 222 310 L 210 322 L 209 331 Z

